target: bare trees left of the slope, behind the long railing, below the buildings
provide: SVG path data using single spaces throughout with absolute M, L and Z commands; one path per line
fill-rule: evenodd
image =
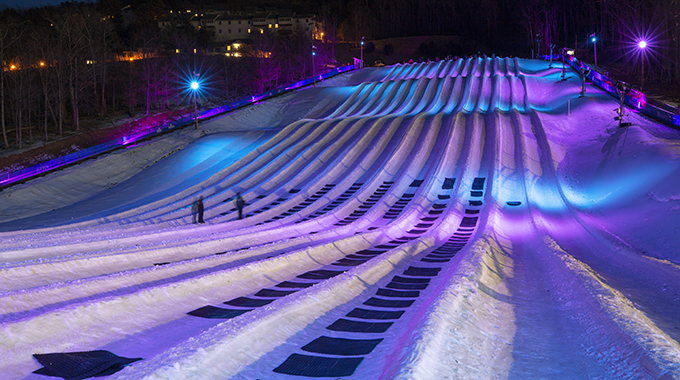
M 192 106 L 260 93 L 321 72 L 332 46 L 292 29 L 255 35 L 241 57 L 194 29 L 160 29 L 170 9 L 159 0 L 62 3 L 0 11 L 2 147 L 78 133 L 85 121 Z M 224 45 L 222 43 L 221 45 Z

